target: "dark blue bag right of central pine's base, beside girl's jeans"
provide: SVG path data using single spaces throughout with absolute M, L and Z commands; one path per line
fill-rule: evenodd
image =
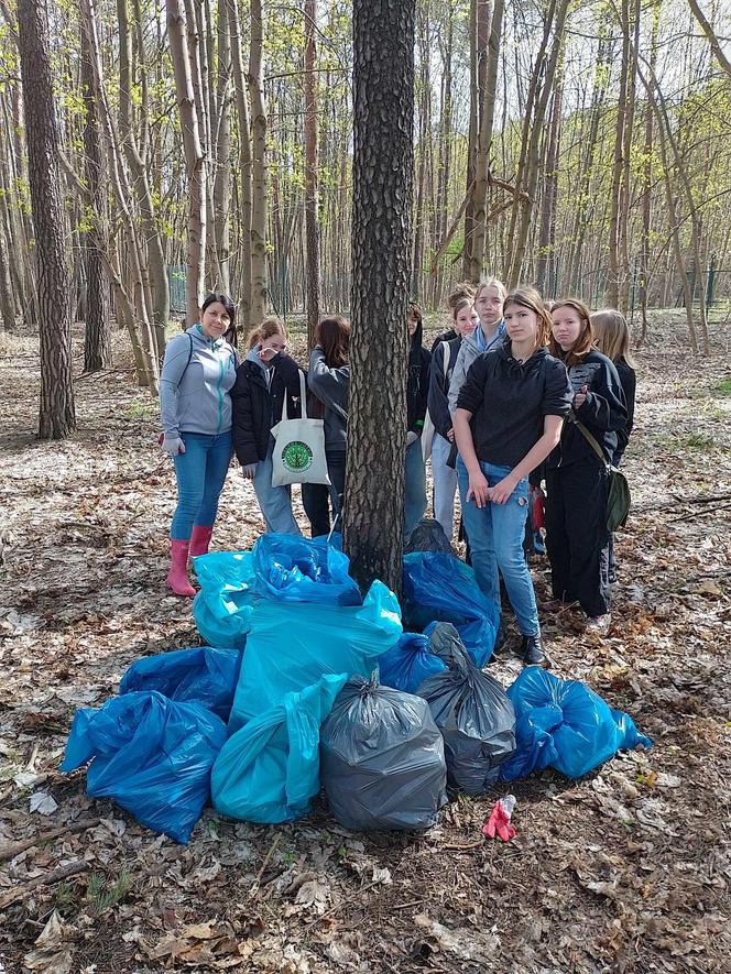
M 404 625 L 423 632 L 450 622 L 478 667 L 492 656 L 500 610 L 480 591 L 474 572 L 451 555 L 416 551 L 404 557 Z

